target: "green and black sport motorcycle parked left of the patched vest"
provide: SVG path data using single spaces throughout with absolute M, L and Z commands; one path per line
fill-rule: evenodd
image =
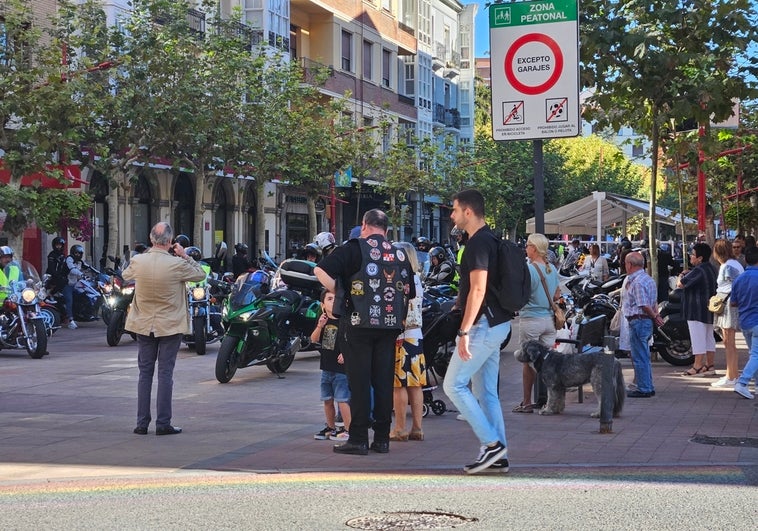
M 229 382 L 239 368 L 261 364 L 280 375 L 310 344 L 321 314 L 314 266 L 305 260 L 282 262 L 278 276 L 288 289 L 271 290 L 265 271 L 239 276 L 222 311 L 226 333 L 216 357 L 219 382 Z

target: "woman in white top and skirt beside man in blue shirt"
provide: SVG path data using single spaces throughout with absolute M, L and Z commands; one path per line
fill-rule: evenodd
M 729 304 L 729 295 L 732 293 L 732 282 L 745 269 L 732 255 L 732 245 L 727 240 L 716 240 L 713 245 L 713 254 L 719 261 L 718 275 L 716 276 L 716 297 L 723 301 L 721 313 L 716 314 L 714 326 L 721 328 L 721 336 L 724 338 L 724 351 L 726 353 L 726 376 L 722 376 L 711 384 L 711 387 L 728 387 L 732 389 L 737 383 L 739 376 L 739 356 L 735 332 L 740 327 L 739 311 L 736 306 Z

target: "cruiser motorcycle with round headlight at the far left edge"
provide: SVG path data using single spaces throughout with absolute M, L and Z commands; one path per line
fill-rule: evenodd
M 21 263 L 21 278 L 0 288 L 5 299 L 0 306 L 0 349 L 26 349 L 34 359 L 47 354 L 47 330 L 40 316 L 42 280 L 29 262 Z

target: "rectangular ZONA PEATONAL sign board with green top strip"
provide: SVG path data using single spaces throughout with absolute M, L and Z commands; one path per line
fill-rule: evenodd
M 578 0 L 490 6 L 492 137 L 577 136 Z

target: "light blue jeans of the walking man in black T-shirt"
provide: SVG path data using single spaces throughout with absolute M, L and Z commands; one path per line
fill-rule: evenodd
M 469 330 L 469 351 L 472 358 L 463 361 L 456 348 L 445 373 L 445 394 L 469 423 L 482 445 L 496 441 L 508 445 L 497 382 L 500 344 L 510 330 L 510 322 L 490 327 L 487 318 L 482 316 Z

